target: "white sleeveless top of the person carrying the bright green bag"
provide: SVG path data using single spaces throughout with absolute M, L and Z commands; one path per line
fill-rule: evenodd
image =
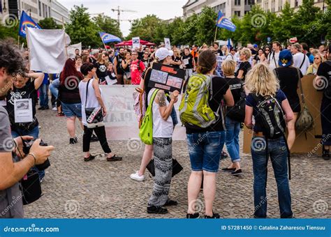
M 148 103 L 151 100 L 154 91 L 155 89 L 149 91 Z M 165 98 L 165 103 L 167 106 L 169 105 L 167 98 Z M 159 104 L 155 102 L 155 99 L 153 102 L 152 112 L 153 112 L 153 137 L 164 137 L 164 138 L 172 137 L 173 123 L 171 116 L 169 116 L 166 121 L 162 119 L 160 114 Z

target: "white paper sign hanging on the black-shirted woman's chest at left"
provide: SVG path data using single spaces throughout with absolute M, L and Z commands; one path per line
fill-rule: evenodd
M 32 117 L 32 99 L 14 100 L 15 123 L 31 123 Z

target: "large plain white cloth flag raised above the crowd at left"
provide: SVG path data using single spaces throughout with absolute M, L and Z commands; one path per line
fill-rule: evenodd
M 59 73 L 68 59 L 66 46 L 70 37 L 64 29 L 27 28 L 27 44 L 30 49 L 30 69 L 45 73 Z

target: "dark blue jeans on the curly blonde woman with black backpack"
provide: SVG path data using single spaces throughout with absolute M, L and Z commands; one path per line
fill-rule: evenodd
M 277 182 L 281 218 L 292 217 L 290 186 L 288 185 L 288 152 L 284 137 L 267 139 L 267 142 L 264 137 L 253 137 L 252 139 L 254 215 L 260 218 L 267 216 L 267 194 L 265 190 L 267 187 L 267 162 L 269 156 Z

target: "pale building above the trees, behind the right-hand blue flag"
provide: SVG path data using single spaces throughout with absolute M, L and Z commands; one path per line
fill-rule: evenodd
M 193 13 L 200 14 L 205 6 L 213 8 L 216 13 L 221 10 L 228 18 L 233 15 L 242 17 L 251 10 L 251 0 L 189 0 L 183 6 L 184 19 Z

